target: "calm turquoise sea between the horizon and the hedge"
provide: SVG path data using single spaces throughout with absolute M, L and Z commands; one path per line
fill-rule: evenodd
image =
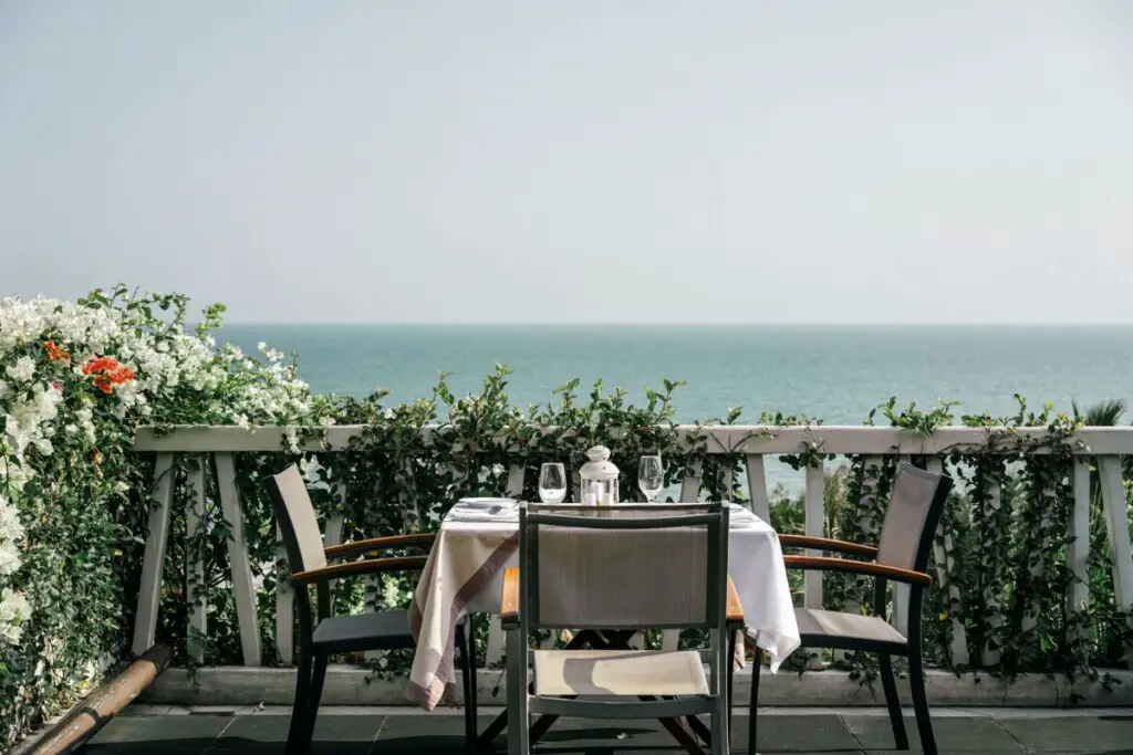
M 317 392 L 391 400 L 431 395 L 437 372 L 458 394 L 477 392 L 497 362 L 511 366 L 509 395 L 546 402 L 572 377 L 597 377 L 632 398 L 663 378 L 687 380 L 678 419 L 743 406 L 855 424 L 889 396 L 959 412 L 1013 412 L 1013 394 L 1038 407 L 1070 409 L 1133 396 L 1133 326 L 520 326 L 229 325 L 220 334 L 245 350 L 259 341 L 297 353 Z M 742 421 L 742 419 L 741 419 Z

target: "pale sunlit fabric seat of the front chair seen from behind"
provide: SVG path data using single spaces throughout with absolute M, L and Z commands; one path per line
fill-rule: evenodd
M 536 695 L 707 695 L 696 651 L 537 650 Z

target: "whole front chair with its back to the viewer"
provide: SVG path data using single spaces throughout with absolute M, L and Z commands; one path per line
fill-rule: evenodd
M 739 610 L 727 578 L 726 507 L 521 504 L 519 522 L 520 566 L 504 573 L 502 604 L 508 752 L 528 755 L 528 717 L 542 713 L 666 721 L 710 714 L 712 752 L 726 753 L 730 595 L 731 612 Z M 732 618 L 742 620 L 742 611 Z M 697 651 L 536 650 L 529 678 L 528 633 L 563 627 L 708 629 L 710 674 Z

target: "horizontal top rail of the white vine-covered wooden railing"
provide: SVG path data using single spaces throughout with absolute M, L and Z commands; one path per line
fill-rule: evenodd
M 425 428 L 426 434 L 443 431 L 445 426 Z M 310 428 L 293 428 L 307 451 L 342 451 L 364 426 L 333 426 L 312 434 Z M 554 428 L 545 428 L 553 432 Z M 134 451 L 156 453 L 240 453 L 273 452 L 284 448 L 284 427 L 241 428 L 236 426 L 177 426 L 172 428 L 140 427 L 134 439 Z M 1036 428 L 965 428 L 947 427 L 921 436 L 894 427 L 860 426 L 693 426 L 676 427 L 680 437 L 702 436 L 708 453 L 723 454 L 798 454 L 817 448 L 826 454 L 893 454 L 939 455 L 957 451 L 987 449 L 1017 454 L 1025 447 L 1030 454 L 1050 453 L 1043 445 L 1048 431 Z M 501 436 L 505 437 L 505 436 Z M 1068 439 L 1076 455 L 1110 456 L 1133 454 L 1133 427 L 1089 427 L 1079 429 Z

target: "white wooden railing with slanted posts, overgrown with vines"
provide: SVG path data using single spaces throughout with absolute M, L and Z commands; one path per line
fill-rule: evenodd
M 306 443 L 306 448 L 317 452 L 342 451 L 350 439 L 357 436 L 360 427 L 327 428 L 323 438 Z M 426 432 L 429 432 L 426 429 Z M 704 428 L 682 426 L 678 428 L 681 436 L 690 434 L 707 436 L 707 451 L 710 454 L 741 454 L 746 460 L 747 483 L 752 511 L 764 520 L 769 520 L 768 491 L 765 475 L 764 457 L 782 454 L 800 454 L 808 448 L 818 448 L 823 454 L 863 455 L 867 463 L 883 461 L 886 456 L 909 457 L 912 455 L 928 456 L 928 469 L 942 471 L 944 455 L 960 451 L 985 451 L 1017 455 L 1017 445 L 1004 444 L 997 438 L 1006 437 L 1004 430 L 977 428 L 944 428 L 930 436 L 917 436 L 897 428 L 880 427 L 716 427 Z M 207 464 L 216 470 L 220 486 L 220 503 L 225 520 L 231 525 L 231 539 L 228 554 L 232 572 L 232 591 L 240 628 L 240 641 L 246 666 L 258 666 L 262 661 L 259 646 L 258 621 L 256 616 L 255 589 L 252 568 L 248 560 L 247 541 L 244 534 L 244 517 L 236 484 L 236 469 L 232 454 L 242 452 L 279 452 L 283 447 L 284 429 L 257 428 L 245 430 L 236 427 L 184 427 L 172 434 L 159 435 L 151 428 L 142 428 L 137 432 L 134 449 L 136 452 L 155 453 L 156 471 L 153 489 L 153 507 L 150 514 L 148 533 L 145 544 L 145 561 L 142 569 L 142 587 L 138 595 L 138 611 L 134 628 L 134 650 L 142 652 L 154 642 L 157 626 L 157 606 L 162 586 L 162 570 L 165 560 L 165 544 L 169 538 L 171 508 L 173 505 L 173 455 L 188 455 L 199 463 L 189 472 L 189 487 L 194 491 L 187 506 L 187 529 L 194 532 L 202 520 L 204 507 L 205 473 Z M 1045 428 L 1024 428 L 1011 431 L 1011 437 L 1028 443 L 1028 454 L 1048 454 L 1050 449 L 1042 445 L 1046 437 Z M 1130 522 L 1123 480 L 1122 456 L 1133 455 L 1133 428 L 1083 428 L 1070 440 L 1070 447 L 1075 456 L 1073 471 L 1074 508 L 1071 517 L 1071 535 L 1073 544 L 1068 549 L 1067 561 L 1071 572 L 1077 577 L 1073 581 L 1066 595 L 1071 610 L 1082 610 L 1090 599 L 1087 584 L 1087 569 L 1090 555 L 1090 465 L 1097 464 L 1101 492 L 1105 504 L 1106 526 L 1113 556 L 1114 592 L 1117 608 L 1130 611 L 1133 609 L 1133 555 L 1130 549 Z M 509 495 L 522 491 L 523 470 L 510 470 Z M 731 480 L 725 480 L 725 489 L 731 489 Z M 812 465 L 806 470 L 806 533 L 823 535 L 824 526 L 824 466 Z M 700 491 L 700 471 L 690 470 L 689 477 L 681 486 L 681 500 L 697 499 Z M 337 494 L 341 495 L 341 490 Z M 998 491 L 993 492 L 998 497 Z M 993 503 L 995 505 L 995 501 Z M 342 538 L 342 517 L 331 516 L 326 522 L 325 540 L 327 544 L 337 544 Z M 936 569 L 938 585 L 949 591 L 952 599 L 961 598 L 960 587 L 948 578 L 948 552 L 951 551 L 949 534 L 944 533 L 944 542 L 936 551 Z M 816 554 L 817 555 L 817 554 Z M 279 546 L 278 558 L 283 558 L 282 546 Z M 190 573 L 202 574 L 201 564 L 190 565 Z M 902 601 L 908 600 L 908 592 L 896 590 L 894 593 L 895 616 L 904 616 L 897 610 Z M 821 574 L 807 572 L 804 601 L 808 607 L 819 608 L 823 603 Z M 276 595 L 276 646 L 280 661 L 291 663 L 293 660 L 293 604 L 292 595 L 286 584 L 281 584 Z M 203 649 L 194 635 L 205 636 L 205 606 L 195 606 L 189 616 L 193 629 L 189 637 L 189 653 L 196 659 L 203 658 Z M 998 617 L 989 617 L 995 623 Z M 901 626 L 898 629 L 903 628 Z M 668 633 L 665 644 L 674 646 L 676 635 Z M 502 633 L 499 620 L 492 625 L 488 641 L 487 662 L 500 659 L 502 653 Z M 985 664 L 994 664 L 994 651 L 983 649 Z M 964 627 L 960 621 L 953 626 L 951 646 L 952 660 L 956 664 L 968 663 L 969 647 L 964 636 Z

